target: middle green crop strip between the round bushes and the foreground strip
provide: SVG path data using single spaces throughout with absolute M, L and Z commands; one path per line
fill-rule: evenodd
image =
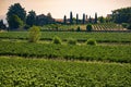
M 0 41 L 0 55 L 131 63 L 131 47 Z

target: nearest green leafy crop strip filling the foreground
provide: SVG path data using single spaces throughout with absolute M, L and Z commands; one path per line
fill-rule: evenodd
M 0 57 L 0 87 L 130 87 L 131 64 Z

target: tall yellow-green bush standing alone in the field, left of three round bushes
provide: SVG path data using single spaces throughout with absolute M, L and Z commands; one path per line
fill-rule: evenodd
M 29 28 L 29 42 L 37 42 L 40 38 L 40 28 L 38 26 L 33 26 Z

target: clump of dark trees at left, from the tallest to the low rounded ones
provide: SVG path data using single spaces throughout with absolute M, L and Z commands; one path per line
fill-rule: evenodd
M 9 8 L 7 13 L 7 21 L 10 29 L 17 29 L 24 26 L 24 28 L 32 27 L 33 25 L 43 26 L 45 24 L 53 23 L 55 20 L 51 14 L 36 15 L 35 11 L 29 11 L 26 14 L 24 8 L 20 3 L 14 3 Z

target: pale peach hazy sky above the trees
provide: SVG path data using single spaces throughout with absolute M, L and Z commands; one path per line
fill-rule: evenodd
M 63 18 L 63 15 L 69 17 L 71 11 L 73 16 L 79 13 L 80 18 L 83 13 L 94 17 L 95 12 L 98 16 L 106 16 L 112 10 L 131 7 L 131 0 L 0 0 L 0 16 L 5 17 L 9 7 L 17 2 L 26 12 L 31 10 L 36 14 L 50 12 L 55 18 Z

